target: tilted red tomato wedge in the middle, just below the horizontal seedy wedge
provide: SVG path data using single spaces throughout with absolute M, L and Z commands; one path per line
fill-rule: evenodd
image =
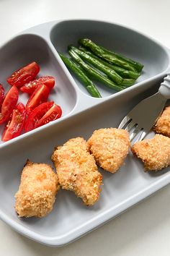
M 38 85 L 37 89 L 35 89 L 27 101 L 27 114 L 30 114 L 34 108 L 47 101 L 49 93 L 50 89 L 46 85 Z

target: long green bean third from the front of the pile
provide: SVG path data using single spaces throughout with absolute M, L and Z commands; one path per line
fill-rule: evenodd
M 96 67 L 97 69 L 99 69 L 102 72 L 104 72 L 105 74 L 107 74 L 107 76 L 113 82 L 116 82 L 117 84 L 121 84 L 122 83 L 122 77 L 120 77 L 120 75 L 117 74 L 113 69 L 110 69 L 109 67 L 107 67 L 104 64 L 102 64 L 101 61 L 99 61 L 97 59 L 94 59 L 93 57 L 89 56 L 89 54 L 86 54 L 84 51 L 80 51 L 78 48 L 76 48 L 74 46 L 68 46 L 68 48 L 72 49 L 73 51 L 75 51 L 76 54 L 78 54 L 85 61 L 87 61 L 90 64 L 92 64 L 94 67 Z

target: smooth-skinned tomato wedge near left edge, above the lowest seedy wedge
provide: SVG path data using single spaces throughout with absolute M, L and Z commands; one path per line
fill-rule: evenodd
M 13 109 L 17 105 L 19 98 L 19 91 L 17 87 L 12 86 L 11 89 L 6 93 L 4 101 L 1 106 L 0 113 L 0 124 L 9 119 L 9 116 L 12 114 Z

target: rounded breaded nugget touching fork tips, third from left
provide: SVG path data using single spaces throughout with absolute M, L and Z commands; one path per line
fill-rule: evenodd
M 124 129 L 104 128 L 94 131 L 88 144 L 97 164 L 113 174 L 128 155 L 130 139 Z

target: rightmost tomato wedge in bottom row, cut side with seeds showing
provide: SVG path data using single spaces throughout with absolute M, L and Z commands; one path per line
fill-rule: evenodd
M 37 122 L 36 127 L 41 127 L 44 124 L 48 124 L 50 121 L 54 121 L 60 118 L 62 115 L 61 107 L 53 104 L 53 106 L 45 113 L 44 116 Z

